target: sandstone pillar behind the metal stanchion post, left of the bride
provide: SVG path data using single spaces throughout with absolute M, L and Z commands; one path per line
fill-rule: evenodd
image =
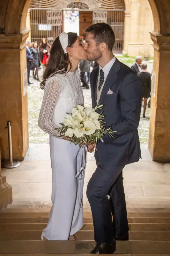
M 0 148 L 1 158 L 9 158 L 8 133 L 11 121 L 13 159 L 23 160 L 29 146 L 26 71 L 26 38 L 29 30 L 16 36 L 0 35 Z

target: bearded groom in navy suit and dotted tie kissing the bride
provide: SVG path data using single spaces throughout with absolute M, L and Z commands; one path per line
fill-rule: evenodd
M 122 170 L 126 164 L 137 162 L 141 157 L 137 132 L 141 82 L 128 66 L 113 55 L 115 35 L 108 24 L 94 24 L 86 32 L 87 60 L 95 60 L 99 64 L 90 76 L 92 107 L 103 104 L 106 128 L 111 127 L 116 131 L 115 138 L 105 135 L 96 145 L 97 169 L 86 193 L 97 243 L 91 253 L 109 254 L 116 249 L 115 240 L 128 240 Z

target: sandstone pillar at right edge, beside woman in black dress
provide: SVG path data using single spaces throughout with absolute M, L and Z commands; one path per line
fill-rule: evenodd
M 155 90 L 151 97 L 149 150 L 152 159 L 170 162 L 170 36 L 151 33 Z

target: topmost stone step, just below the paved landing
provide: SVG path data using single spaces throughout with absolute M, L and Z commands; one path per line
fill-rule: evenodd
M 39 207 L 39 208 L 2 208 L 0 216 L 2 217 L 48 217 L 50 212 L 50 207 Z M 161 212 L 163 209 L 156 209 L 155 212 L 152 212 L 153 209 L 150 209 L 151 212 L 146 212 L 148 209 L 130 209 L 128 212 L 128 217 L 169 217 L 169 212 Z M 168 209 L 166 209 L 168 210 Z M 136 211 L 136 212 L 134 212 Z M 5 213 L 5 214 L 4 214 Z M 84 212 L 85 217 L 92 217 L 92 212 Z

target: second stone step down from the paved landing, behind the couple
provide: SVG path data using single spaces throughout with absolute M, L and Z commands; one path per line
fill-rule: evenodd
M 84 218 L 84 223 L 92 223 L 92 217 Z M 129 223 L 170 223 L 167 217 L 128 217 Z M 0 223 L 48 223 L 48 217 L 0 217 Z

